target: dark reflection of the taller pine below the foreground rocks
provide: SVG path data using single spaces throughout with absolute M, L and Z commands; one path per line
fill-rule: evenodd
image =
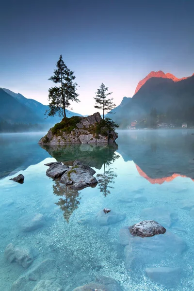
M 55 202 L 55 204 L 64 212 L 64 218 L 68 223 L 71 214 L 80 204 L 80 193 L 69 186 L 65 186 L 63 183 L 60 183 L 60 181 L 55 181 L 55 184 L 53 185 L 53 193 L 57 196 L 62 196 L 58 202 Z

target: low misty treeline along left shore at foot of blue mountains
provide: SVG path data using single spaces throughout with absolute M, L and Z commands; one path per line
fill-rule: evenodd
M 47 130 L 49 125 L 43 124 L 25 124 L 25 123 L 8 123 L 6 121 L 0 122 L 0 132 L 28 132 L 28 131 L 43 131 Z

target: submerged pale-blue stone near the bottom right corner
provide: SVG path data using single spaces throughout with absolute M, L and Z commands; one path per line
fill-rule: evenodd
M 146 275 L 154 282 L 164 285 L 165 287 L 175 287 L 182 275 L 181 268 L 146 268 Z

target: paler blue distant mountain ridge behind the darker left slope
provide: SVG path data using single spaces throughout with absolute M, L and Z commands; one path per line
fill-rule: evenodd
M 40 103 L 34 99 L 28 99 L 28 98 L 24 97 L 23 95 L 21 95 L 20 93 L 16 94 L 16 93 L 14 93 L 8 89 L 5 89 L 5 88 L 3 88 L 3 90 L 7 94 L 14 97 L 20 104 L 29 108 L 36 116 L 38 116 L 39 119 L 41 119 L 41 123 L 55 124 L 55 123 L 61 121 L 61 118 L 59 116 L 49 116 L 46 118 L 45 112 L 47 109 L 49 109 L 48 105 L 43 105 L 42 103 Z M 74 113 L 74 112 L 71 112 L 69 110 L 66 110 L 66 114 L 67 114 L 67 117 L 72 117 L 74 115 L 82 116 L 79 113 Z

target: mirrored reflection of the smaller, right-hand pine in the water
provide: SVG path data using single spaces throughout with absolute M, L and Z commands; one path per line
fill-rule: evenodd
M 114 168 L 110 166 L 115 160 L 119 158 L 119 155 L 113 154 L 112 160 L 104 162 L 104 172 L 102 174 L 97 174 L 98 188 L 100 192 L 103 193 L 104 197 L 111 193 L 110 189 L 114 189 L 113 184 L 114 179 L 117 177 L 117 174 L 114 172 Z

